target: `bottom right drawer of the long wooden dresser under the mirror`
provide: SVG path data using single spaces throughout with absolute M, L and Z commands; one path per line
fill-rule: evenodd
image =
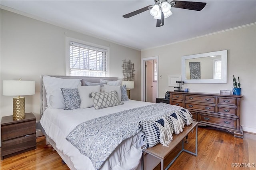
M 222 125 L 225 127 L 236 128 L 236 121 L 232 119 L 225 119 L 221 117 L 214 117 L 214 116 L 200 114 L 199 121 L 202 123 L 211 123 L 216 125 Z

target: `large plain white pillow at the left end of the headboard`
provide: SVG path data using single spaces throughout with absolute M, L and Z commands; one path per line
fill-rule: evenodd
M 46 91 L 47 106 L 53 109 L 65 108 L 65 102 L 61 88 L 63 89 L 76 89 L 81 86 L 80 79 L 60 79 L 44 75 L 44 88 Z

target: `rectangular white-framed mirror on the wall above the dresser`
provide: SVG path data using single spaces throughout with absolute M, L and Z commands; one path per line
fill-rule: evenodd
M 227 50 L 183 56 L 181 79 L 185 83 L 227 83 Z

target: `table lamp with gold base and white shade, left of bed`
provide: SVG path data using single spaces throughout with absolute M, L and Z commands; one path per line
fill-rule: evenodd
M 25 95 L 35 94 L 35 81 L 4 80 L 3 95 L 18 96 L 12 98 L 13 111 L 12 119 L 14 121 L 25 119 Z

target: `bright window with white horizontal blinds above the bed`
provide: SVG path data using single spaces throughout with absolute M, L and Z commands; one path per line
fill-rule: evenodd
M 104 49 L 75 41 L 68 41 L 68 43 L 67 75 L 108 76 L 108 48 Z

